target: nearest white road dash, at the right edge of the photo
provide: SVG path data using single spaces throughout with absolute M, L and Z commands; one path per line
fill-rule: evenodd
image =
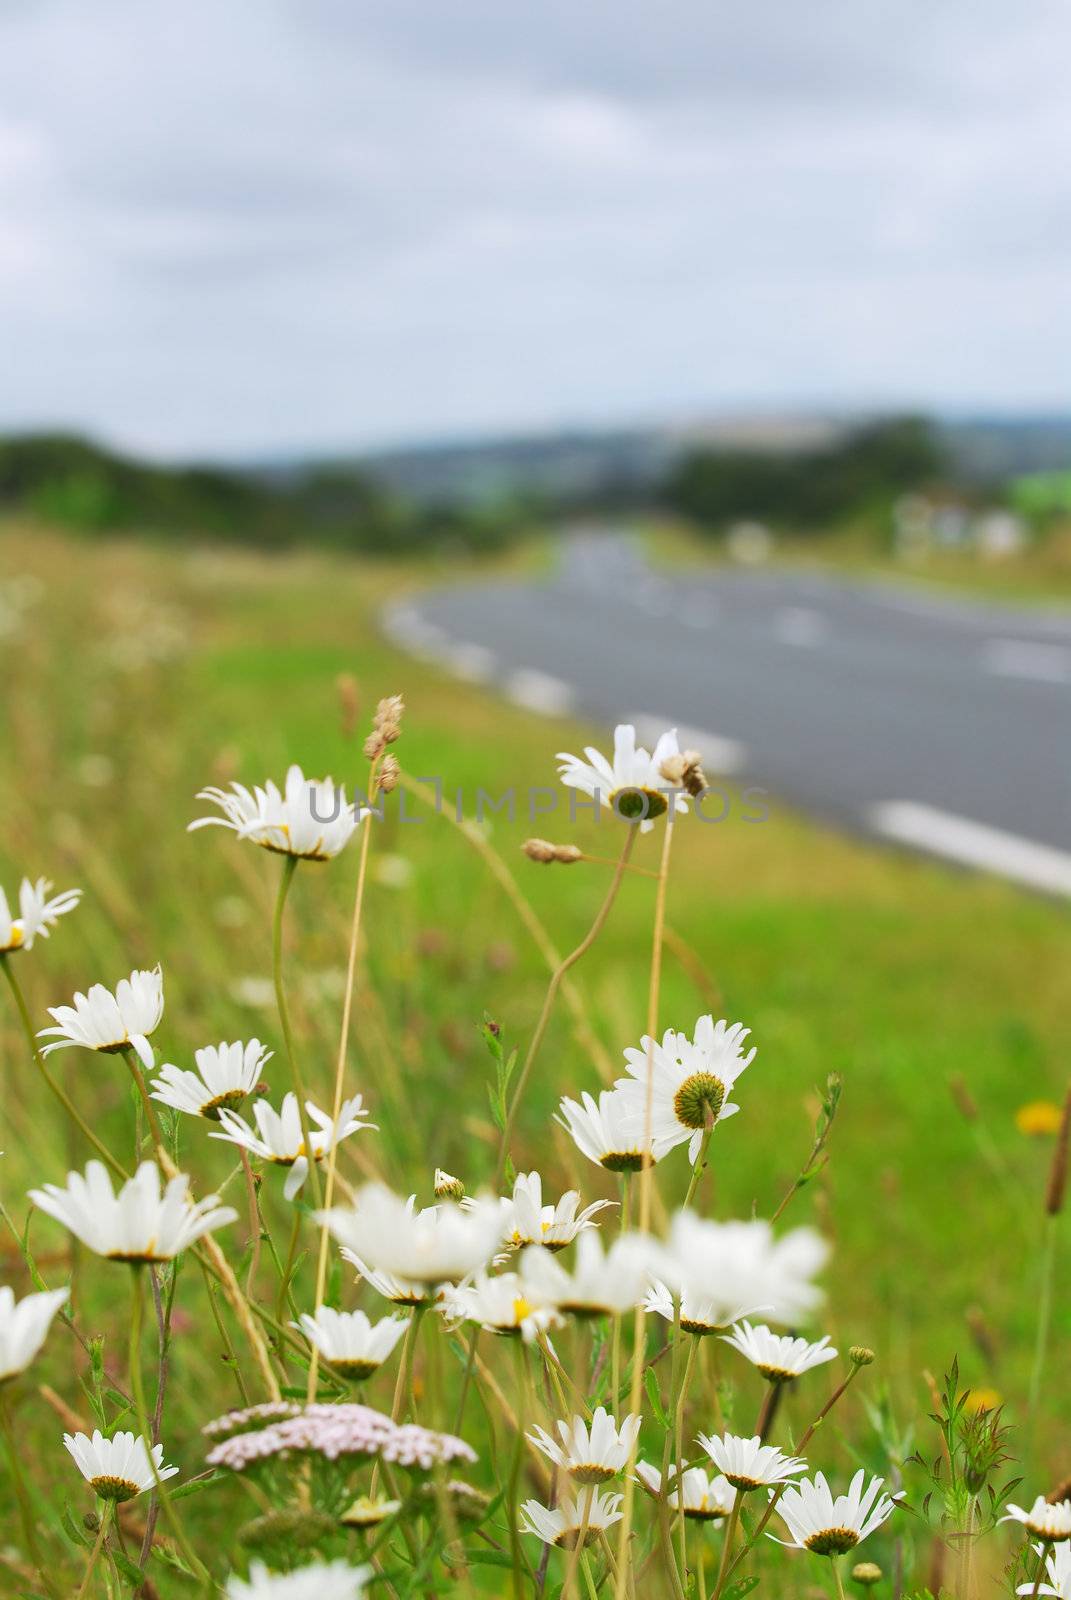
M 901 845 L 996 872 L 1049 894 L 1071 896 L 1071 853 L 1066 850 L 1037 845 L 916 800 L 885 800 L 869 808 L 868 819 L 879 834 Z

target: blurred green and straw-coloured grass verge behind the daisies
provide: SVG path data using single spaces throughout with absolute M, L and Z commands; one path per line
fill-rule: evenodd
M 45 1006 L 67 1002 L 75 989 L 114 984 L 133 966 L 162 960 L 158 1059 L 189 1064 L 202 1043 L 256 1034 L 277 1051 L 269 1080 L 282 1093 L 275 1016 L 232 987 L 237 978 L 269 976 L 277 862 L 223 832 L 189 835 L 187 821 L 205 811 L 195 790 L 231 776 L 282 778 L 290 760 L 359 782 L 371 709 L 394 691 L 407 699 L 395 747 L 405 768 L 440 776 L 447 795 L 459 787 L 469 808 L 477 786 L 520 792 L 552 784 L 556 750 L 607 738 L 605 730 L 506 709 L 386 645 L 378 605 L 426 578 L 407 568 L 176 554 L 133 541 L 83 544 L 29 526 L 5 528 L 0 549 L 8 578 L 35 574 L 43 584 L 21 632 L 0 642 L 0 882 L 11 891 L 22 872 L 45 874 L 58 886 L 80 883 L 86 891 L 48 942 L 18 958 L 42 1024 Z M 339 674 L 359 685 L 355 739 L 339 725 Z M 490 827 L 552 939 L 568 949 L 594 915 L 605 869 L 527 862 L 519 845 L 533 832 L 608 854 L 610 824 L 498 816 Z M 1058 1101 L 1066 1090 L 1066 910 L 996 882 L 874 851 L 780 810 L 764 826 L 682 824 L 677 834 L 669 922 L 695 958 L 682 966 L 672 952 L 668 957 L 663 1026 L 690 1030 L 696 1014 L 714 1008 L 746 1021 L 759 1046 L 738 1090 L 741 1114 L 717 1134 L 706 1202 L 720 1214 L 768 1214 L 808 1149 L 815 1086 L 829 1072 L 842 1074 L 832 1160 L 786 1219 L 815 1219 L 834 1242 L 829 1331 L 842 1347 L 876 1347 L 871 1392 L 888 1382 L 901 1414 L 929 1410 L 924 1371 L 940 1373 L 959 1352 L 964 1378 L 996 1387 L 1012 1418 L 1021 1416 L 1052 1146 L 1021 1134 L 1015 1110 L 1025 1101 Z M 637 859 L 653 866 L 655 851 L 656 842 L 644 840 Z M 397 859 L 408 864 L 402 886 Z M 317 1098 L 330 1093 L 352 880 L 349 856 L 301 867 L 291 896 L 287 962 Z M 576 970 L 615 1059 L 644 1030 L 650 925 L 652 883 L 634 877 L 605 936 Z M 376 829 L 365 928 L 351 1080 L 381 1131 L 346 1144 L 341 1170 L 355 1179 L 371 1163 L 424 1200 L 434 1166 L 477 1189 L 493 1170 L 496 1141 L 479 1022 L 490 1013 L 507 1042 L 523 1045 L 546 966 L 477 853 L 443 818 L 408 826 L 395 808 Z M 27 1186 L 61 1181 L 86 1152 L 43 1098 L 3 1006 L 0 1051 L 0 1194 L 21 1229 Z M 85 1115 L 125 1147 L 131 1112 L 122 1070 L 110 1058 L 80 1051 L 54 1059 Z M 1007 1170 L 1007 1187 L 994 1181 L 975 1128 L 954 1107 L 954 1077 L 981 1107 L 980 1126 Z M 562 1093 L 581 1088 L 597 1088 L 597 1072 L 560 1008 L 515 1154 L 519 1166 L 538 1165 L 562 1187 L 576 1160 L 564 1138 L 548 1131 L 548 1118 Z M 199 1128 L 181 1131 L 184 1165 L 199 1189 L 223 1182 L 232 1165 L 226 1147 L 200 1138 Z M 660 1168 L 660 1184 L 672 1200 L 674 1190 L 676 1198 L 684 1192 L 685 1171 L 682 1163 L 669 1166 Z M 581 1176 L 586 1198 L 613 1194 L 599 1170 Z M 264 1189 L 277 1218 L 285 1210 L 280 1187 L 269 1173 Z M 239 1190 L 235 1184 L 240 1206 Z M 29 1237 L 50 1285 L 62 1282 L 66 1235 L 37 1219 Z M 0 1262 L 0 1278 L 24 1291 L 26 1270 L 10 1237 Z M 1061 1246 L 1058 1285 L 1068 1266 Z M 125 1290 L 109 1270 L 82 1262 L 77 1312 L 88 1334 L 106 1334 L 106 1360 L 122 1370 Z M 192 1266 L 186 1278 L 166 1442 L 168 1459 L 189 1474 L 202 1461 L 200 1421 L 235 1403 L 235 1389 L 207 1333 Z M 307 1299 L 307 1261 L 299 1283 Z M 354 1304 L 349 1288 L 344 1293 Z M 1052 1373 L 1061 1368 L 1069 1333 L 1060 1291 Z M 85 1418 L 82 1365 L 75 1344 L 54 1330 L 32 1378 Z M 389 1405 L 391 1381 L 384 1374 L 371 1386 L 373 1403 Z M 80 1515 L 82 1485 L 59 1445 L 64 1424 L 32 1387 L 19 1413 L 32 1470 L 42 1486 L 61 1483 Z M 1061 1429 L 1069 1421 L 1065 1386 L 1050 1397 L 1041 1432 L 1053 1472 L 1066 1469 Z M 863 1427 L 858 1411 L 856 1424 Z M 836 1448 L 832 1437 L 828 1448 Z M 231 1486 L 189 1506 L 194 1528 L 199 1515 L 224 1517 L 224 1536 L 253 1514 Z M 8 1531 L 16 1541 L 13 1523 Z

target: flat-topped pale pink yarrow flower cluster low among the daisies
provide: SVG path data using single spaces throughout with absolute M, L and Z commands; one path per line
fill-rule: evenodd
M 235 1432 L 235 1429 L 245 1429 Z M 338 1461 L 341 1456 L 379 1456 L 399 1467 L 431 1467 L 450 1461 L 475 1461 L 475 1451 L 453 1434 L 435 1434 L 416 1422 L 399 1426 L 367 1405 L 277 1405 L 229 1411 L 208 1422 L 205 1434 L 221 1438 L 208 1451 L 210 1467 L 245 1467 L 291 1451 Z

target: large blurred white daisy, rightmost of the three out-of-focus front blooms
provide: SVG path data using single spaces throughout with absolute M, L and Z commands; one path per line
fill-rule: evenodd
M 669 1256 L 685 1301 L 696 1312 L 709 1307 L 724 1331 L 756 1312 L 772 1322 L 804 1322 L 821 1304 L 812 1280 L 826 1264 L 829 1245 L 812 1227 L 776 1238 L 768 1222 L 712 1222 L 677 1211 Z

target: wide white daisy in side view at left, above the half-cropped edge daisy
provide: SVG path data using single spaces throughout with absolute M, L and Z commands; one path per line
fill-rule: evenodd
M 70 1229 L 88 1250 L 109 1261 L 171 1261 L 203 1234 L 237 1219 L 237 1211 L 221 1206 L 218 1195 L 189 1200 L 189 1178 L 179 1173 L 160 1192 L 160 1168 L 142 1162 L 118 1194 L 102 1162 L 90 1162 L 82 1173 L 67 1173 L 66 1189 L 45 1184 L 30 1189 L 30 1200 L 48 1216 Z

